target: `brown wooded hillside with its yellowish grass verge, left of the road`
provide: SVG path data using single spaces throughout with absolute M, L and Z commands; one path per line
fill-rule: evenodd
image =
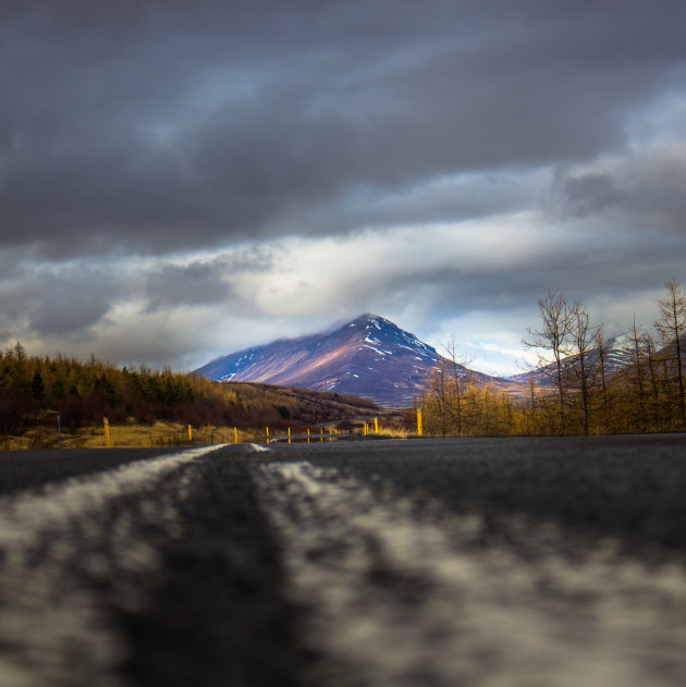
M 211 443 L 225 440 L 226 428 L 230 434 L 236 427 L 252 438 L 261 435 L 266 427 L 297 430 L 376 412 L 370 401 L 342 394 L 210 382 L 145 366 L 119 369 L 93 356 L 86 363 L 28 356 L 20 343 L 0 353 L 2 449 L 53 446 L 58 441 L 102 445 L 105 417 L 121 446 L 183 443 L 187 425 L 196 428 L 198 440 Z M 146 427 L 155 431 L 145 431 Z

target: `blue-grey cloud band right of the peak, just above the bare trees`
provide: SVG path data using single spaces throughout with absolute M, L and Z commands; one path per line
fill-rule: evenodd
M 638 265 L 636 255 L 641 256 Z M 537 299 L 551 289 L 586 303 L 600 294 L 614 294 L 617 304 L 633 290 L 654 291 L 671 275 L 682 279 L 684 255 L 686 241 L 679 236 L 667 243 L 640 235 L 621 242 L 611 235 L 596 241 L 585 237 L 563 249 L 541 247 L 537 254 L 513 259 L 507 267 L 418 266 L 409 273 L 392 274 L 375 287 L 395 307 L 422 294 L 425 310 L 433 320 L 474 310 L 491 312 L 497 328 L 500 311 L 535 308 Z

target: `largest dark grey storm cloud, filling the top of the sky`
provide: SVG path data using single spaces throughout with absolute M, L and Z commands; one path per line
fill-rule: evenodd
M 679 2 L 0 11 L 1 240 L 54 257 L 345 231 L 376 193 L 590 159 L 686 57 Z

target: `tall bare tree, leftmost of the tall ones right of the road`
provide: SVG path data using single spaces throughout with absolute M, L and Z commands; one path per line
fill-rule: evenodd
M 539 298 L 541 314 L 540 330 L 529 329 L 529 336 L 523 343 L 539 353 L 540 371 L 549 375 L 558 393 L 558 418 L 560 433 L 565 432 L 565 369 L 564 358 L 568 353 L 568 336 L 572 327 L 569 305 L 562 294 L 549 291 Z M 552 358 L 552 359 L 551 359 Z

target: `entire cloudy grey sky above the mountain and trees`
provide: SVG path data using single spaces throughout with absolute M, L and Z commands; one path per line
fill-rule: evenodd
M 0 343 L 192 369 L 364 311 L 516 372 L 686 282 L 681 0 L 0 2 Z

